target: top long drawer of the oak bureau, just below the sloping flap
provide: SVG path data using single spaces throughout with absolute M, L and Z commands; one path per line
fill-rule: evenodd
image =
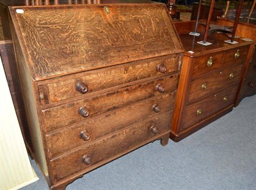
M 84 95 L 91 92 L 148 77 L 161 77 L 166 73 L 178 71 L 179 58 L 180 55 L 168 55 L 51 80 L 43 87 L 46 94 L 44 103 L 55 103 L 69 98 L 83 98 Z

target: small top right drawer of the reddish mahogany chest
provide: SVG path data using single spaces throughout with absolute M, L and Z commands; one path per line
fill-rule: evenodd
M 246 61 L 248 48 L 248 46 L 243 46 L 227 50 L 223 62 L 224 67 L 232 66 L 235 64 L 243 64 Z

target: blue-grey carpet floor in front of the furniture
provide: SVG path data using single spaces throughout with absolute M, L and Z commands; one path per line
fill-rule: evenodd
M 22 189 L 48 189 L 40 180 Z M 69 189 L 256 189 L 256 96 L 179 143 L 159 141 L 105 164 Z

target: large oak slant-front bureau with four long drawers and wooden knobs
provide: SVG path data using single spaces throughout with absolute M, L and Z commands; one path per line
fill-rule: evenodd
M 182 44 L 164 4 L 10 8 L 33 147 L 51 189 L 170 136 Z

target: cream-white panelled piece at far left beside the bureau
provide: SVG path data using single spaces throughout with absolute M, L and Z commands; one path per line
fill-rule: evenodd
M 0 189 L 20 189 L 38 177 L 29 161 L 1 59 L 0 89 Z

